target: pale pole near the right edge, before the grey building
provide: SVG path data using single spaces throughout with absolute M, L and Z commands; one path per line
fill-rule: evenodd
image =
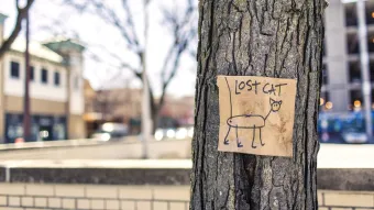
M 358 0 L 358 19 L 359 19 L 359 41 L 360 41 L 360 64 L 362 78 L 362 92 L 365 112 L 366 135 L 373 136 L 372 129 L 372 87 L 370 80 L 369 53 L 367 53 L 367 27 L 365 20 L 365 1 Z

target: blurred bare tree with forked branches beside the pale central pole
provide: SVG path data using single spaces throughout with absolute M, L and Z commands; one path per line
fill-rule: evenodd
M 189 47 L 197 35 L 195 26 L 195 22 L 197 22 L 195 5 L 191 0 L 185 0 L 185 2 L 187 5 L 184 8 L 184 11 L 176 10 L 176 8 L 161 9 L 164 19 L 163 23 L 165 27 L 169 30 L 170 35 L 173 36 L 173 42 L 167 51 L 167 55 L 165 56 L 165 60 L 161 69 L 160 81 L 162 95 L 158 100 L 154 96 L 154 88 L 152 88 L 151 84 L 147 84 L 150 89 L 153 123 L 157 122 L 160 110 L 165 101 L 166 89 L 179 69 L 180 58 L 184 54 L 191 53 Z M 121 1 L 122 9 L 120 11 L 111 8 L 107 4 L 107 1 L 101 0 L 64 0 L 63 3 L 64 5 L 67 4 L 73 7 L 79 12 L 98 15 L 106 23 L 118 30 L 127 45 L 127 52 L 138 57 L 138 60 L 129 60 L 127 57 L 116 53 L 110 53 L 110 55 L 119 60 L 119 68 L 131 71 L 138 79 L 140 79 L 140 81 L 143 82 L 143 73 L 148 73 L 148 69 L 145 69 L 148 65 L 146 65 L 146 60 L 144 60 L 144 55 L 147 51 L 147 45 L 144 41 L 147 38 L 146 36 L 152 35 L 152 33 L 138 33 L 136 24 L 140 21 L 135 20 L 128 0 Z M 145 1 L 146 5 L 150 3 L 151 0 Z M 148 11 L 144 9 L 143 12 L 147 13 Z M 144 16 L 148 18 L 148 15 Z M 147 31 L 148 21 L 142 21 L 144 22 L 143 30 Z M 194 54 L 194 52 L 191 54 Z M 147 56 L 152 55 L 148 54 Z M 146 80 L 148 81 L 148 79 Z M 156 124 L 154 124 L 153 128 L 155 129 Z

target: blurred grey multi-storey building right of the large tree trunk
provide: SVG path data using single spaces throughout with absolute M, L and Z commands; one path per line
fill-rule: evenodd
M 365 1 L 370 76 L 374 87 L 374 1 Z M 324 110 L 344 112 L 363 104 L 356 2 L 330 0 L 324 14 Z M 372 89 L 372 98 L 374 97 Z

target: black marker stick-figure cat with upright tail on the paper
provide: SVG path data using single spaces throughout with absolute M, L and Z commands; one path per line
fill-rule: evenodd
M 223 143 L 226 145 L 229 144 L 228 136 L 230 134 L 231 128 L 234 128 L 235 133 L 237 133 L 238 147 L 243 147 L 243 144 L 241 143 L 241 141 L 239 140 L 239 136 L 238 136 L 238 129 L 248 129 L 248 130 L 253 130 L 252 148 L 256 148 L 256 146 L 254 145 L 254 140 L 255 140 L 256 129 L 258 129 L 260 130 L 260 142 L 261 142 L 261 145 L 264 146 L 265 143 L 263 143 L 262 139 L 261 139 L 261 129 L 265 126 L 265 122 L 266 122 L 266 119 L 268 118 L 268 115 L 272 112 L 277 112 L 280 109 L 282 100 L 276 101 L 276 100 L 273 100 L 271 98 L 271 100 L 270 100 L 271 110 L 268 111 L 268 113 L 265 117 L 260 115 L 260 114 L 232 115 L 231 89 L 230 89 L 228 79 L 226 77 L 224 77 L 224 79 L 226 79 L 226 82 L 228 84 L 228 88 L 229 88 L 229 92 L 230 92 L 229 97 L 230 97 L 230 109 L 231 109 L 230 111 L 231 112 L 230 112 L 230 118 L 227 120 L 227 123 L 229 125 L 229 131 L 226 134 Z

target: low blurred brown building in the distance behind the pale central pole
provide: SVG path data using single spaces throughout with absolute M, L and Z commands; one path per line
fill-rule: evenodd
M 105 122 L 118 122 L 129 126 L 131 134 L 140 132 L 142 89 L 116 88 L 95 91 L 85 81 L 84 119 L 88 135 Z M 166 96 L 160 111 L 158 128 L 176 128 L 194 124 L 194 97 Z

